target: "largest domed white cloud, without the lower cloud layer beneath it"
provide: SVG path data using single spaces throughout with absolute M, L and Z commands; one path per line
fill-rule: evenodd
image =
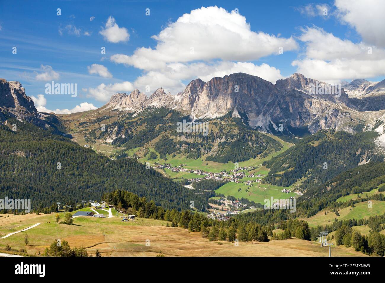
M 133 55 L 115 54 L 111 60 L 140 69 L 157 69 L 169 62 L 194 60 L 257 60 L 261 57 L 295 50 L 290 38 L 253 32 L 246 18 L 218 7 L 202 7 L 169 23 L 158 35 L 155 49 L 141 47 Z

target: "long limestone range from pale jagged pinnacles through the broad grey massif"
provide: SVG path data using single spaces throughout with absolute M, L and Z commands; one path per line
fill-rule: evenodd
M 353 131 L 349 126 L 353 121 L 351 112 L 360 111 L 361 102 L 349 98 L 344 88 L 301 74 L 272 84 L 260 77 L 236 73 L 208 82 L 192 80 L 175 96 L 163 89 L 148 99 L 139 90 L 130 95 L 116 94 L 106 107 L 130 112 L 150 106 L 166 107 L 188 113 L 192 119 L 214 119 L 231 111 L 261 131 L 274 132 L 282 124 L 287 132 L 307 128 L 315 133 L 321 129 Z

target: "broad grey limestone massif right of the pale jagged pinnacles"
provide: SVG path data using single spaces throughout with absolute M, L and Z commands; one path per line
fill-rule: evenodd
M 315 85 L 330 87 L 331 94 L 314 93 Z M 249 126 L 262 131 L 270 132 L 283 124 L 286 129 L 305 126 L 314 133 L 341 129 L 351 120 L 346 108 L 338 105 L 351 106 L 343 89 L 339 94 L 333 86 L 301 74 L 278 80 L 274 85 L 256 76 L 237 73 L 204 84 L 201 92 L 195 94 L 191 116 L 215 118 L 235 109 L 247 115 Z

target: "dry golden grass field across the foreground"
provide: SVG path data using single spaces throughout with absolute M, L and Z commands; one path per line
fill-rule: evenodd
M 4 215 L 4 214 L 3 214 Z M 3 216 L 2 215 L 2 216 Z M 328 248 L 316 242 L 299 239 L 270 242 L 210 242 L 201 233 L 166 227 L 166 221 L 137 218 L 122 222 L 121 218 L 74 218 L 73 225 L 55 224 L 55 214 L 27 214 L 0 218 L 0 237 L 20 231 L 36 223 L 40 225 L 0 239 L 0 252 L 9 244 L 13 249 L 25 248 L 30 255 L 42 253 L 45 247 L 59 239 L 71 247 L 82 246 L 88 253 L 98 249 L 102 256 L 328 256 Z M 164 225 L 164 226 L 162 226 Z M 26 246 L 24 236 L 28 234 Z M 147 245 L 146 245 L 147 243 Z M 332 248 L 333 256 L 365 256 L 343 246 Z

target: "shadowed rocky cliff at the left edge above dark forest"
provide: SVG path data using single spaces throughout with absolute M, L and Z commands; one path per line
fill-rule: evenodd
M 31 97 L 25 94 L 20 82 L 8 82 L 0 79 L 0 119 L 4 122 L 7 116 L 23 119 L 40 127 L 49 127 L 48 115 L 37 112 Z

